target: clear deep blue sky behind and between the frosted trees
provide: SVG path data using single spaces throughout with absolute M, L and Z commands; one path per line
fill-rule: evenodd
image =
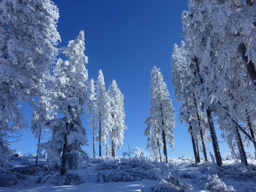
M 173 44 L 179 44 L 182 38 L 182 11 L 188 10 L 186 0 L 180 1 L 57 1 L 60 18 L 57 30 L 61 36 L 59 47 L 67 46 L 69 40 L 77 37 L 80 30 L 85 34 L 85 55 L 88 56 L 89 79 L 97 79 L 102 70 L 106 89 L 115 79 L 124 94 L 126 112 L 122 150 L 117 155 L 136 146 L 146 148 L 147 137 L 143 131 L 145 117 L 149 115 L 150 70 L 160 68 L 164 81 L 173 100 L 177 122 L 174 128 L 176 144 L 173 152 L 168 149 L 169 157 L 182 155 L 193 157 L 191 137 L 188 125 L 179 122 L 181 104 L 174 99 L 170 73 L 170 57 Z M 62 55 L 60 55 L 65 59 Z M 22 109 L 31 122 L 32 108 L 22 103 Z M 92 130 L 88 128 L 87 117 L 83 120 L 87 129 L 89 147 L 83 147 L 92 154 Z M 30 131 L 30 126 L 20 130 L 20 141 L 12 143 L 17 151 L 35 153 L 37 139 Z M 217 128 L 218 140 L 223 141 Z M 44 133 L 44 138 L 49 138 Z M 43 140 L 43 142 L 45 141 Z M 208 152 L 213 151 L 208 143 Z M 98 144 L 97 144 L 98 147 Z M 222 156 L 229 151 L 226 143 L 220 143 Z M 97 148 L 98 152 L 98 148 Z M 253 147 L 246 148 L 253 155 Z M 104 153 L 103 153 L 104 154 Z M 202 156 L 202 154 L 201 154 Z M 208 154 L 209 156 L 209 154 Z

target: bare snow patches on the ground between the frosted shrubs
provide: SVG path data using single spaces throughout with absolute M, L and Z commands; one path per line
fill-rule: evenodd
M 120 157 L 118 157 L 120 158 Z M 106 162 L 106 165 L 109 164 L 118 164 L 114 163 L 113 161 L 109 161 L 109 158 L 102 158 L 102 162 Z M 122 158 L 121 158 L 122 159 Z M 125 165 L 129 165 L 132 163 L 126 159 Z M 147 163 L 144 160 L 134 160 L 135 162 L 140 162 L 139 165 L 144 163 Z M 201 161 L 203 161 L 201 159 Z M 27 160 L 26 160 L 27 162 Z M 34 164 L 35 159 L 29 159 L 29 163 Z M 45 162 L 44 159 L 40 159 L 39 163 Z M 202 176 L 205 176 L 207 174 L 204 174 L 201 172 L 202 168 L 209 168 L 210 165 L 212 165 L 211 162 L 205 162 L 201 163 L 199 165 L 194 164 L 194 159 L 192 158 L 172 158 L 169 159 L 169 166 L 164 166 L 164 175 L 162 176 L 163 178 L 168 175 L 168 177 L 174 177 L 174 178 L 179 178 L 182 183 L 185 184 L 190 184 L 194 191 L 197 192 L 206 192 L 206 190 L 203 190 L 200 185 L 198 184 L 198 179 Z M 152 162 L 153 163 L 153 162 Z M 254 167 L 256 165 L 256 159 L 248 159 L 248 163 L 250 164 L 249 166 Z M 19 162 L 10 162 L 9 165 L 13 165 L 16 167 L 19 166 L 28 166 L 28 165 L 23 165 L 23 161 Z M 90 191 L 90 192 L 101 192 L 101 191 L 111 191 L 111 192 L 119 192 L 119 191 L 141 191 L 141 186 L 145 186 L 147 188 L 150 188 L 152 185 L 156 185 L 158 183 L 157 180 L 151 180 L 151 179 L 142 179 L 142 180 L 135 180 L 132 182 L 106 182 L 106 183 L 99 183 L 95 182 L 95 176 L 104 170 L 95 170 L 95 168 L 100 165 L 101 163 L 91 163 L 90 167 L 87 169 L 78 169 L 78 170 L 70 170 L 68 171 L 69 173 L 77 173 L 85 183 L 82 183 L 80 185 L 76 186 L 56 186 L 54 184 L 50 183 L 36 183 L 37 176 L 31 176 L 31 175 L 26 175 L 27 180 L 18 180 L 18 184 L 10 187 L 0 187 L 0 191 L 19 191 L 19 192 L 30 192 L 30 191 Z M 159 163 L 158 163 L 159 165 Z M 153 173 L 157 176 L 161 175 L 161 170 L 162 170 L 162 164 L 159 167 L 156 164 L 156 167 L 153 169 Z M 232 165 L 232 166 L 231 166 Z M 244 168 L 243 165 L 241 164 L 234 164 L 233 160 L 225 160 L 223 161 L 223 167 L 225 166 L 231 166 L 231 168 L 238 167 L 237 170 L 239 170 L 240 173 L 242 173 L 242 169 Z M 105 167 L 106 168 L 106 167 Z M 135 167 L 136 169 L 138 167 Z M 231 170 L 230 168 L 230 170 Z M 103 168 L 104 169 L 104 168 Z M 108 170 L 107 170 L 108 171 Z M 209 174 L 209 173 L 208 173 Z M 232 174 L 236 174 L 236 172 L 233 172 Z M 246 174 L 246 173 L 245 173 Z M 256 178 L 256 173 L 254 171 L 253 173 Z M 182 178 L 180 176 L 182 175 Z M 213 174 L 212 174 L 213 175 Z M 211 176 L 212 176 L 211 175 Z M 183 178 L 183 177 L 188 177 L 188 178 Z M 190 178 L 189 178 L 190 177 Z M 215 176 L 216 177 L 216 176 Z M 196 178 L 196 179 L 195 179 Z M 248 187 L 250 186 L 256 186 L 256 180 L 255 178 L 253 179 L 247 179 L 247 180 L 235 180 L 229 175 L 222 175 L 221 173 L 219 174 L 219 177 L 217 176 L 221 181 L 223 181 L 226 186 L 232 186 L 237 192 L 246 192 L 246 191 L 253 191 L 253 190 L 248 190 Z M 216 182 L 216 180 L 215 180 Z M 255 191 L 255 190 L 254 190 Z

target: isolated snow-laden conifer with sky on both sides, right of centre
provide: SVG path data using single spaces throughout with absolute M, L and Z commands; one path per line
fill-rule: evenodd
M 151 70 L 150 117 L 148 117 L 145 122 L 148 126 L 144 134 L 148 136 L 147 146 L 154 146 L 154 155 L 156 154 L 156 149 L 158 148 L 160 150 L 160 144 L 163 143 L 163 152 L 166 158 L 165 161 L 167 162 L 166 143 L 169 143 L 171 149 L 174 148 L 173 128 L 176 122 L 174 121 L 175 114 L 174 108 L 172 107 L 172 100 L 168 98 L 169 91 L 166 86 L 160 69 L 154 66 Z M 161 134 L 161 138 L 159 134 Z M 157 140 L 159 141 L 157 142 Z

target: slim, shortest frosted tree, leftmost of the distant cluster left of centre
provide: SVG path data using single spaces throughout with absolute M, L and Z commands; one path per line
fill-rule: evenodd
M 95 110 L 96 110 L 96 98 L 95 98 L 95 86 L 93 79 L 89 82 L 88 98 L 87 98 L 87 111 L 89 112 L 89 125 L 92 128 L 92 142 L 93 142 L 93 157 L 95 158 L 95 131 L 97 129 L 97 123 L 95 121 Z

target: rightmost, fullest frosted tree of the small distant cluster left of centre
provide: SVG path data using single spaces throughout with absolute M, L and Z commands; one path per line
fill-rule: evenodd
M 113 125 L 110 127 L 111 132 L 111 156 L 115 157 L 115 148 L 121 149 L 124 139 L 124 95 L 117 87 L 116 81 L 113 80 L 108 89 L 108 97 L 110 99 L 111 118 Z

